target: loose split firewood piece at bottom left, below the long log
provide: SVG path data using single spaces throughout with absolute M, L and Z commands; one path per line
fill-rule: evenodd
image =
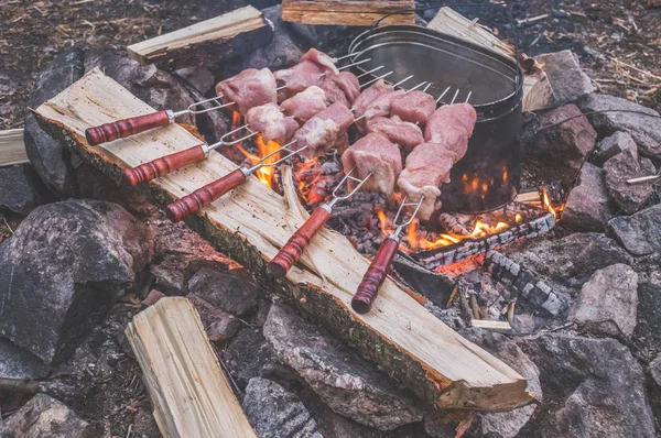
M 188 299 L 159 299 L 126 333 L 164 437 L 258 438 Z

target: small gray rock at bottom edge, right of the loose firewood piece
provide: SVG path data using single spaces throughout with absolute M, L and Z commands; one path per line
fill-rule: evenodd
M 270 380 L 248 382 L 243 410 L 261 438 L 322 438 L 299 397 Z

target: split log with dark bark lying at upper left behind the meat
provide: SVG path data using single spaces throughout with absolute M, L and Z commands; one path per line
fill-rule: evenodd
M 129 57 L 164 69 L 213 64 L 266 44 L 273 36 L 262 13 L 245 7 L 127 47 Z

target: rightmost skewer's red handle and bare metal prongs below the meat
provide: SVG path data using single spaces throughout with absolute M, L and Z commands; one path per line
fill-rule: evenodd
M 420 210 L 420 206 L 422 206 L 422 202 L 424 201 L 424 196 L 422 196 L 418 202 L 407 202 L 408 198 L 409 196 L 404 196 L 400 208 L 397 210 L 397 215 L 394 215 L 394 231 L 387 236 L 381 242 L 377 255 L 375 255 L 375 259 L 367 269 L 367 272 L 362 276 L 362 281 L 358 285 L 356 295 L 354 295 L 354 298 L 351 299 L 351 308 L 358 314 L 367 314 L 371 309 L 377 294 L 379 293 L 379 287 L 381 287 L 381 284 L 383 284 L 383 281 L 390 272 L 392 260 L 394 259 L 394 254 L 399 247 L 400 234 L 404 228 L 411 225 L 415 215 L 418 215 L 418 210 Z M 398 222 L 404 207 L 415 207 L 415 209 L 408 219 Z

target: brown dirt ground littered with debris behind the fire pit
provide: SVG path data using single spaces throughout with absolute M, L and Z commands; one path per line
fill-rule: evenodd
M 41 67 L 65 47 L 127 45 L 252 3 L 243 0 L 4 0 L 0 6 L 0 129 L 20 128 Z M 495 0 L 419 1 L 456 9 L 511 41 L 505 7 Z M 469 7 L 466 4 L 475 4 Z M 433 17 L 433 11 L 426 11 Z M 603 92 L 661 106 L 661 8 L 630 0 L 528 0 L 513 8 L 520 48 L 531 55 L 575 51 Z M 617 59 L 617 61 L 615 61 Z

